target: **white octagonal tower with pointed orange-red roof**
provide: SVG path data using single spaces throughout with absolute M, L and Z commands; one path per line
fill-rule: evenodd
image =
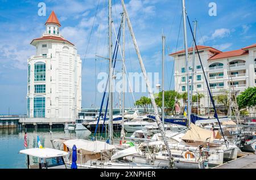
M 43 36 L 32 40 L 28 59 L 27 116 L 51 122 L 75 121 L 81 111 L 81 59 L 75 45 L 59 32 L 52 11 Z

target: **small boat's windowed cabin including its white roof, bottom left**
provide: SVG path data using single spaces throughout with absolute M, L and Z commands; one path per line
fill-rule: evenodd
M 52 148 L 31 148 L 19 151 L 20 154 L 27 155 L 28 169 L 66 169 L 63 156 L 68 153 Z M 32 160 L 35 162 L 30 161 Z

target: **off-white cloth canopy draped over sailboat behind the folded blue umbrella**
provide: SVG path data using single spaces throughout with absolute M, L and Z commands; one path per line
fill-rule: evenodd
M 114 149 L 114 145 L 110 145 L 106 142 L 101 141 L 91 141 L 85 139 L 69 139 L 63 142 L 69 149 L 73 148 L 73 145 L 76 145 L 77 149 L 82 149 L 84 151 L 98 153 L 101 151 L 108 151 Z

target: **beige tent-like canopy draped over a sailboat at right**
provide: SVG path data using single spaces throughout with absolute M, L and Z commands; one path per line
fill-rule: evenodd
M 205 130 L 191 123 L 188 131 L 181 138 L 182 140 L 193 140 L 195 142 L 205 142 L 208 138 L 210 142 L 214 139 L 221 139 L 221 135 L 218 131 Z

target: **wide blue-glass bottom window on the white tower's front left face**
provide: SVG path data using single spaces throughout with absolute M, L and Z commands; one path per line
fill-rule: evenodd
M 46 97 L 35 96 L 34 97 L 34 118 L 46 117 Z

